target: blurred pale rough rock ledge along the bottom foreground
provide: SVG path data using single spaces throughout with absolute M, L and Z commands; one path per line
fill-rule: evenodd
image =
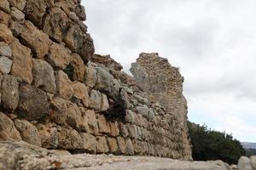
M 23 142 L 0 143 L 0 169 L 73 170 L 230 170 L 223 161 L 177 161 L 147 156 L 70 155 Z

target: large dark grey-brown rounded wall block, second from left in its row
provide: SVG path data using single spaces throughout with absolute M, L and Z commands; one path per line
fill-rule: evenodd
M 49 113 L 47 94 L 30 85 L 20 86 L 18 113 L 28 121 L 39 120 Z

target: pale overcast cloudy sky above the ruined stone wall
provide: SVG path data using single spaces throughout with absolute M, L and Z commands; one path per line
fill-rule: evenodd
M 83 0 L 97 54 L 181 69 L 189 120 L 256 142 L 255 0 Z

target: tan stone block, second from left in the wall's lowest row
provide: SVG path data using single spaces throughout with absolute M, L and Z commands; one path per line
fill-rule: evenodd
M 19 119 L 15 120 L 15 127 L 20 132 L 22 140 L 26 141 L 28 144 L 41 146 L 41 140 L 37 127 L 33 126 L 26 120 Z

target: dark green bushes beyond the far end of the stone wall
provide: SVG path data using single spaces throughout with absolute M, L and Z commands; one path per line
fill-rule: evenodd
M 221 133 L 188 122 L 189 137 L 192 144 L 192 156 L 195 161 L 222 160 L 236 164 L 245 155 L 241 143 L 231 134 Z

